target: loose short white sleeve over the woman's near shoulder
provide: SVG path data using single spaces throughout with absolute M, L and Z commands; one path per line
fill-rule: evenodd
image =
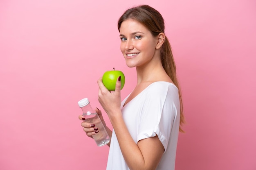
M 180 101 L 175 85 L 168 82 L 151 84 L 144 94 L 137 142 L 157 135 L 166 150 L 173 122 L 179 111 Z

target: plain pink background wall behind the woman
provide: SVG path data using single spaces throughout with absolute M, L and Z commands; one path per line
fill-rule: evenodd
M 113 67 L 123 99 L 136 84 L 117 20 L 137 4 L 162 13 L 177 64 L 176 170 L 256 169 L 255 0 L 1 0 L 1 170 L 106 168 L 108 146 L 85 136 L 77 102 L 101 109 L 96 81 Z

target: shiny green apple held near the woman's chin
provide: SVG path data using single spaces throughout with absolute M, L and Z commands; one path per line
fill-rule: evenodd
M 124 73 L 113 68 L 112 71 L 106 71 L 102 76 L 102 83 L 109 91 L 115 91 L 117 78 L 121 76 L 121 89 L 124 87 Z

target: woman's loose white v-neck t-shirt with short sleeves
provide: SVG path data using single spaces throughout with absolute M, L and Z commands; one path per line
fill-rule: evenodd
M 121 106 L 124 106 L 128 96 L 122 101 Z M 121 110 L 124 122 L 136 144 L 141 139 L 156 135 L 162 142 L 165 151 L 157 170 L 174 170 L 180 126 L 180 100 L 177 87 L 164 81 L 154 82 L 121 107 Z M 114 130 L 107 170 L 129 170 Z

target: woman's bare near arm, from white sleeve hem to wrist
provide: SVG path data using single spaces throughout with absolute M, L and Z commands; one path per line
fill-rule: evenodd
M 164 146 L 159 138 L 155 136 L 142 139 L 136 144 L 122 118 L 115 117 L 110 121 L 128 167 L 131 170 L 155 170 L 164 153 Z

